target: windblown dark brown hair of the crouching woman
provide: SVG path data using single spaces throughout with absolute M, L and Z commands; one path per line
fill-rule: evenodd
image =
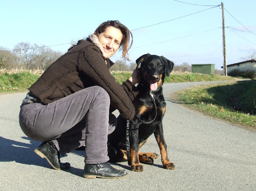
M 108 20 L 108 21 L 100 24 L 100 26 L 98 26 L 98 28 L 96 28 L 94 33 L 99 35 L 100 33 L 103 33 L 106 30 L 106 28 L 108 28 L 109 26 L 113 26 L 113 27 L 119 29 L 121 31 L 121 33 L 123 34 L 123 38 L 122 38 L 119 48 L 120 48 L 120 50 L 121 49 L 123 50 L 122 55 L 123 55 L 124 60 L 130 61 L 129 55 L 128 55 L 128 50 L 132 46 L 133 39 L 131 40 L 131 43 L 130 43 L 130 35 L 132 38 L 132 32 L 126 26 L 121 24 L 118 20 Z

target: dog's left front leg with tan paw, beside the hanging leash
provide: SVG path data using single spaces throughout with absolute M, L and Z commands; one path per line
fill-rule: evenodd
M 143 165 L 141 165 L 139 161 L 139 127 L 134 128 L 134 124 L 132 127 L 133 129 L 131 129 L 129 132 L 131 170 L 142 172 Z

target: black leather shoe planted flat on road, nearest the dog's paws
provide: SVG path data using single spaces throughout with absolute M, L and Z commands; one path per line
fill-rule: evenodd
M 114 179 L 114 178 L 124 178 L 126 177 L 127 171 L 126 170 L 117 170 L 111 165 L 108 164 L 108 162 L 100 163 L 97 165 L 90 165 L 85 164 L 84 165 L 84 178 L 108 178 L 108 179 Z

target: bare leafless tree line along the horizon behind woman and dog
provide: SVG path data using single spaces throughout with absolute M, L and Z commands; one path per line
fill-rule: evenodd
M 29 42 L 20 42 L 14 45 L 12 51 L 0 46 L 0 68 L 11 70 L 18 69 L 47 69 L 55 60 L 57 60 L 63 52 L 52 50 L 45 45 L 30 44 Z M 256 51 L 248 53 L 245 57 L 241 57 L 241 61 L 256 58 Z M 126 63 L 124 60 L 116 60 L 111 67 L 113 71 L 129 71 L 134 70 L 137 64 L 135 62 Z M 192 72 L 192 66 L 187 62 L 180 65 L 174 64 L 173 71 Z M 215 74 L 222 74 L 222 70 L 215 70 Z

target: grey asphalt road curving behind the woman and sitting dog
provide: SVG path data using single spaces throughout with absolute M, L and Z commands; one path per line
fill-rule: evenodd
M 0 190 L 256 190 L 256 133 L 217 121 L 168 99 L 172 92 L 197 84 L 164 84 L 167 109 L 164 137 L 174 170 L 162 168 L 161 158 L 123 179 L 84 179 L 84 152 L 61 158 L 71 169 L 53 170 L 34 153 L 40 142 L 28 139 L 19 127 L 20 104 L 26 93 L 0 94 Z M 154 136 L 141 151 L 160 154 Z

